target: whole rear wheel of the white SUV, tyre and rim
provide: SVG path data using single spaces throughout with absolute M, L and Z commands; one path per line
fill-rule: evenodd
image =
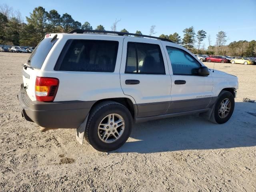
M 132 115 L 118 102 L 106 101 L 90 111 L 85 138 L 98 151 L 120 148 L 132 131 Z

